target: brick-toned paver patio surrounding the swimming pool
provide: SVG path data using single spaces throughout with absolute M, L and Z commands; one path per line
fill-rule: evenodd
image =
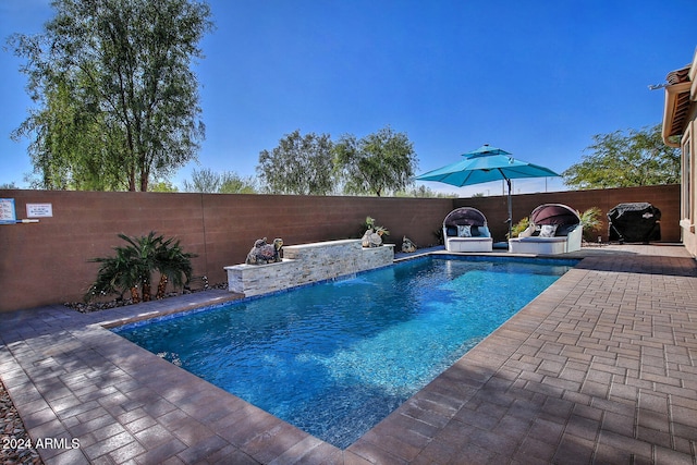
M 225 292 L 1 314 L 0 374 L 47 464 L 697 464 L 695 259 L 670 245 L 574 255 L 344 451 L 103 328 Z

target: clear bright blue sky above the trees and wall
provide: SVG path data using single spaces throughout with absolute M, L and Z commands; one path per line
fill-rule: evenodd
M 41 30 L 48 0 L 0 1 L 0 37 Z M 210 0 L 216 29 L 195 65 L 206 140 L 193 168 L 254 175 L 285 134 L 363 137 L 386 125 L 414 143 L 418 173 L 482 144 L 562 172 L 595 134 L 660 123 L 663 90 L 689 63 L 697 2 Z M 32 171 L 20 61 L 0 51 L 0 184 Z M 500 195 L 501 183 L 455 188 Z M 516 180 L 514 193 L 564 189 Z

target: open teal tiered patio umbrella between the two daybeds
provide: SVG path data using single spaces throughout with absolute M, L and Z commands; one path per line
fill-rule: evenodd
M 509 185 L 509 238 L 513 228 L 511 180 L 559 176 L 549 168 L 516 160 L 510 152 L 490 145 L 463 154 L 463 159 L 416 176 L 418 181 L 438 181 L 457 187 L 505 180 Z

